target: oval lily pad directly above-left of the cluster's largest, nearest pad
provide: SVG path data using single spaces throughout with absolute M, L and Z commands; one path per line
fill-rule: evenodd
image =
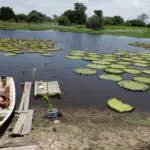
M 102 74 L 102 75 L 99 75 L 99 78 L 104 79 L 104 80 L 111 80 L 111 81 L 123 80 L 123 77 L 121 77 L 120 75 L 115 75 L 115 74 Z

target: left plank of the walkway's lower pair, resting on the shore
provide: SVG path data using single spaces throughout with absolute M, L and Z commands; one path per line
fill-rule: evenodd
M 21 134 L 21 130 L 22 130 L 22 127 L 23 127 L 23 124 L 26 120 L 26 115 L 27 114 L 24 114 L 24 113 L 21 113 L 18 120 L 17 120 L 17 123 L 15 124 L 15 127 L 12 131 L 12 135 L 20 135 Z

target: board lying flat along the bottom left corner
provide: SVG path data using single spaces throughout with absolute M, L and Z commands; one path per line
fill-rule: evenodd
M 1 150 L 40 150 L 40 147 L 38 145 L 29 145 L 29 146 L 21 146 L 21 147 L 1 148 Z

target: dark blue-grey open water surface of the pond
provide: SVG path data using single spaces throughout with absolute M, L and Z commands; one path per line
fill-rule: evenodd
M 17 104 L 22 95 L 20 83 L 35 80 L 58 80 L 62 91 L 61 100 L 55 100 L 58 106 L 97 107 L 106 109 L 106 101 L 117 97 L 126 103 L 133 104 L 137 110 L 150 111 L 150 90 L 147 92 L 130 92 L 120 88 L 115 82 L 98 79 L 98 75 L 79 76 L 73 69 L 88 64 L 82 60 L 66 60 L 69 50 L 84 50 L 99 53 L 111 53 L 116 49 L 145 51 L 128 46 L 129 42 L 150 42 L 150 39 L 92 35 L 85 33 L 63 33 L 55 31 L 0 31 L 3 38 L 45 39 L 58 42 L 63 48 L 55 52 L 52 58 L 39 54 L 23 54 L 16 57 L 0 56 L 0 76 L 13 76 L 17 88 Z M 36 71 L 33 73 L 33 68 Z M 99 71 L 98 73 L 102 73 Z M 127 78 L 131 78 L 128 75 Z M 33 89 L 32 89 L 33 90 Z M 44 106 L 41 99 L 33 98 L 31 106 Z

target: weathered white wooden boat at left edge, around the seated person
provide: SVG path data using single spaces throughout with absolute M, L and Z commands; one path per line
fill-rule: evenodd
M 7 108 L 0 107 L 0 127 L 9 119 L 9 117 L 14 111 L 15 104 L 16 104 L 16 90 L 15 90 L 14 80 L 12 77 L 7 77 L 6 80 L 7 80 L 7 85 L 10 87 L 9 90 L 10 105 Z M 0 86 L 2 86 L 1 77 L 0 77 Z

